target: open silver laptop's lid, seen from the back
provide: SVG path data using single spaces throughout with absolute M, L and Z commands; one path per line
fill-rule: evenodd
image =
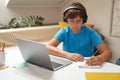
M 26 62 L 53 70 L 47 48 L 44 44 L 19 38 L 16 41 Z

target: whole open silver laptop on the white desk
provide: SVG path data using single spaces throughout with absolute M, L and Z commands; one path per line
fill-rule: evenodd
M 55 71 L 72 63 L 72 61 L 49 55 L 45 44 L 27 40 L 16 39 L 23 59 L 31 64 Z

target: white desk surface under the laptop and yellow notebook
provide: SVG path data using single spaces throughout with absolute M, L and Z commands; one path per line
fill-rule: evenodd
M 23 61 L 18 47 L 6 49 L 6 64 Z M 86 80 L 85 72 L 120 72 L 120 66 L 105 62 L 100 69 L 79 68 L 74 62 L 57 71 L 50 71 L 32 64 L 23 69 L 7 68 L 0 71 L 0 80 Z

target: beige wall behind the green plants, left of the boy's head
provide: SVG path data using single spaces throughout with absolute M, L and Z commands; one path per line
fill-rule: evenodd
M 59 21 L 59 7 L 5 7 L 5 0 L 0 0 L 0 23 L 8 23 L 13 17 L 40 15 L 45 18 L 44 23 Z

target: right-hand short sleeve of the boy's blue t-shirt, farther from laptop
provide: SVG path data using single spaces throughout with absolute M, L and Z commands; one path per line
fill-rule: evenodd
M 90 40 L 91 40 L 92 44 L 96 47 L 99 44 L 103 43 L 103 40 L 101 39 L 100 35 L 93 29 L 90 32 Z

